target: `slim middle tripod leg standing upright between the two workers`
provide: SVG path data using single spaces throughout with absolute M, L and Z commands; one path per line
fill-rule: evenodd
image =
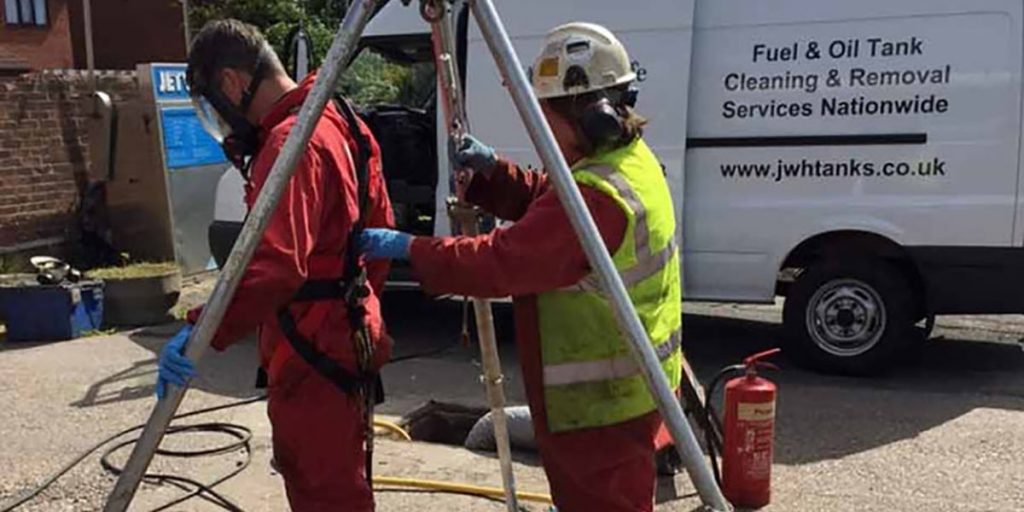
M 452 8 L 449 0 L 423 0 L 421 12 L 430 22 L 432 29 L 434 62 L 437 69 L 437 94 L 444 110 L 449 138 L 458 144 L 469 130 L 469 125 L 466 120 L 462 86 L 459 80 Z M 450 165 L 450 170 L 456 176 L 456 195 L 458 200 L 462 201 L 468 184 L 468 173 L 457 170 L 452 165 Z M 472 209 L 460 208 L 460 205 L 456 205 L 454 208 L 456 211 L 453 220 L 461 226 L 462 233 L 470 237 L 477 234 L 479 232 L 479 218 L 476 212 Z M 508 421 L 505 417 L 505 390 L 502 387 L 502 366 L 498 356 L 498 342 L 495 336 L 495 321 L 490 302 L 474 298 L 473 310 L 476 314 L 480 359 L 483 367 L 481 380 L 486 388 L 487 403 L 490 406 L 490 416 L 494 418 L 495 441 L 502 470 L 505 505 L 509 512 L 515 512 L 519 507 L 515 495 L 512 449 L 509 442 Z

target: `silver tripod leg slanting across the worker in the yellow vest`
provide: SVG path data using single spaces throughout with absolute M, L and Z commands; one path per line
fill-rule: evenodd
M 675 440 L 676 449 L 686 466 L 690 479 L 705 506 L 718 511 L 731 510 L 731 506 L 722 496 L 722 490 L 715 483 L 711 470 L 700 451 L 693 430 L 690 429 L 683 415 L 679 400 L 669 385 L 669 380 L 662 371 L 660 361 L 654 353 L 653 346 L 647 338 L 647 332 L 637 316 L 633 302 L 615 270 L 611 257 L 604 247 L 594 219 L 583 201 L 583 196 L 572 180 L 568 165 L 555 142 L 551 127 L 541 112 L 541 105 L 530 90 L 519 58 L 515 54 L 512 42 L 502 25 L 498 11 L 492 0 L 470 0 L 473 15 L 480 27 L 480 33 L 486 41 L 495 57 L 498 69 L 505 79 L 512 100 L 515 102 L 519 116 L 526 125 L 526 131 L 537 148 L 548 176 L 554 183 L 562 206 L 568 214 L 577 237 L 587 253 L 591 268 L 600 276 L 601 288 L 615 311 L 620 329 L 626 334 L 630 350 L 637 361 L 647 387 L 657 403 Z

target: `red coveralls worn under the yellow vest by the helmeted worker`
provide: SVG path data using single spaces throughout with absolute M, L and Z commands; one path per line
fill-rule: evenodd
M 580 189 L 613 252 L 625 236 L 625 213 L 608 196 Z M 548 431 L 536 294 L 574 285 L 590 266 L 547 176 L 503 160 L 489 178 L 474 176 L 466 199 L 515 223 L 475 238 L 414 239 L 410 261 L 421 284 L 434 294 L 514 297 L 523 382 L 559 512 L 653 510 L 656 411 L 607 427 Z

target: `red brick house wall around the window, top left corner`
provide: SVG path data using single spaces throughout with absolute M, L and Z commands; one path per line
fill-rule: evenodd
M 48 27 L 0 24 L 0 67 L 9 69 L 24 62 L 33 70 L 73 68 L 68 1 L 48 0 Z

